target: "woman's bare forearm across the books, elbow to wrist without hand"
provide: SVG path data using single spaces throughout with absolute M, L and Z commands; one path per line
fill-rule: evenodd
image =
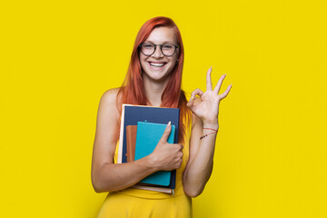
M 138 183 L 157 171 L 151 162 L 151 157 L 146 156 L 131 163 L 105 163 L 94 175 L 95 192 L 118 191 Z

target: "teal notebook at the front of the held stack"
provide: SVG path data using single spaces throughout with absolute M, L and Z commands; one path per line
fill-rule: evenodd
M 138 160 L 152 154 L 155 146 L 163 136 L 163 132 L 167 124 L 154 124 L 147 122 L 137 123 L 136 143 L 135 143 L 135 159 Z M 171 134 L 167 142 L 173 144 L 175 126 L 172 125 Z M 145 177 L 140 183 L 149 183 L 168 186 L 171 182 L 171 171 L 158 171 Z

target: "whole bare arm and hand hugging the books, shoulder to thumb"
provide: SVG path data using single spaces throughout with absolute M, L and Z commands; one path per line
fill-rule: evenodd
M 166 142 L 170 134 L 170 125 L 166 128 L 153 154 L 132 163 L 114 163 L 117 143 L 114 133 L 120 125 L 120 114 L 116 106 L 117 92 L 118 89 L 106 91 L 99 104 L 91 173 L 96 193 L 124 189 L 138 183 L 151 173 L 173 170 L 180 167 L 182 163 L 183 146 Z

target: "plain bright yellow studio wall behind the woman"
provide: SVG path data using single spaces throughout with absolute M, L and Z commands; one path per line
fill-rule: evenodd
M 0 217 L 95 217 L 97 107 L 138 29 L 172 17 L 183 89 L 227 74 L 212 177 L 193 217 L 327 217 L 326 1 L 2 1 Z

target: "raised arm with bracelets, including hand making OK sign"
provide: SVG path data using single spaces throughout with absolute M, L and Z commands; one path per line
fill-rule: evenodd
M 213 153 L 219 128 L 219 104 L 232 88 L 230 84 L 223 94 L 218 94 L 226 75 L 222 75 L 213 89 L 211 72 L 212 67 L 206 75 L 206 92 L 194 90 L 187 104 L 193 112 L 193 126 L 189 161 L 183 173 L 183 189 L 190 197 L 196 197 L 203 192 L 213 171 Z

